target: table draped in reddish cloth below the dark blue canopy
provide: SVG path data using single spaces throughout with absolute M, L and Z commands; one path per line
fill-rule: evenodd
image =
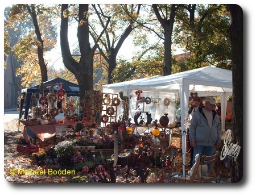
M 85 127 L 98 127 L 97 123 L 84 123 Z M 63 131 L 72 131 L 72 124 L 51 124 L 51 125 L 36 125 L 36 126 L 24 126 L 23 128 L 23 136 L 26 139 L 27 143 L 30 143 L 29 136 L 27 134 L 28 131 L 31 131 L 34 135 L 34 144 L 36 143 L 36 136 L 39 137 L 40 140 L 45 141 L 57 134 L 60 134 Z

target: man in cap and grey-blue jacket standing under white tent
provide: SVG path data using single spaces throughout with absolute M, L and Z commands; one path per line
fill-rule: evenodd
M 204 99 L 204 107 L 199 107 L 193 114 L 189 126 L 189 141 L 194 148 L 193 155 L 202 153 L 205 156 L 212 156 L 214 147 L 221 145 L 220 120 L 218 119 L 216 101 L 212 97 Z M 195 156 L 193 164 L 195 164 Z

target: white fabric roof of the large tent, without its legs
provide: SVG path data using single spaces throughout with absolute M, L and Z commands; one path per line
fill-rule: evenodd
M 200 92 L 201 96 L 232 94 L 232 71 L 206 66 L 168 76 L 154 76 L 144 80 L 104 85 L 102 89 L 144 89 L 180 93 L 180 85 L 189 85 L 189 90 Z

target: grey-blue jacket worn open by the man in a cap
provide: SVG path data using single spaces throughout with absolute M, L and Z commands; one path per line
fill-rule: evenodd
M 216 143 L 221 143 L 220 120 L 215 110 L 212 111 L 212 115 L 213 122 L 210 129 L 203 108 L 201 107 L 195 111 L 189 126 L 190 141 L 196 141 L 196 145 L 204 146 L 213 146 Z

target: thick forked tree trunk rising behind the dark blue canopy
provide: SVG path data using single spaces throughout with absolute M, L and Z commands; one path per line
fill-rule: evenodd
M 77 39 L 81 53 L 80 61 L 73 59 L 68 44 L 68 15 L 63 16 L 68 5 L 61 6 L 61 26 L 60 26 L 60 45 L 61 55 L 65 67 L 76 77 L 79 84 L 80 99 L 84 98 L 85 91 L 93 91 L 93 55 L 94 49 L 90 48 L 89 42 L 89 24 L 87 14 L 89 6 L 87 4 L 79 5 L 79 24 L 77 27 Z M 84 23 L 81 22 L 84 21 Z

